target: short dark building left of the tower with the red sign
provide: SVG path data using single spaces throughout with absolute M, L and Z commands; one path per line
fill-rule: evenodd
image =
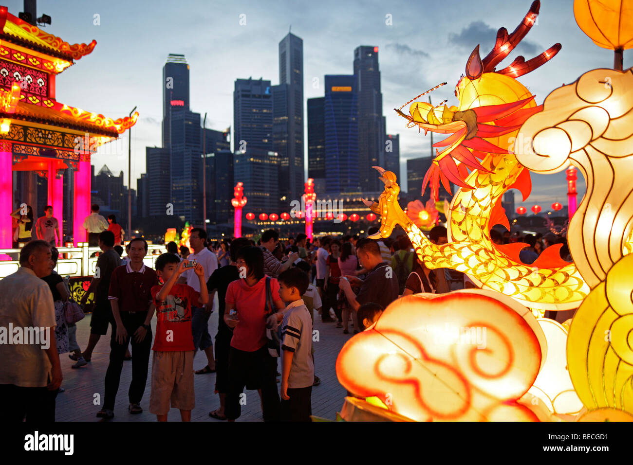
M 163 216 L 172 203 L 169 149 L 145 147 L 147 215 Z

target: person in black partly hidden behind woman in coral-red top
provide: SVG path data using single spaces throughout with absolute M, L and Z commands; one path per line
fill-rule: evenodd
M 209 412 L 211 418 L 225 420 L 224 403 L 227 397 L 228 376 L 229 376 L 229 350 L 233 330 L 224 322 L 224 311 L 226 308 L 227 288 L 229 284 L 241 277 L 246 277 L 244 273 L 240 275 L 240 270 L 235 266 L 237 252 L 243 247 L 250 247 L 251 242 L 240 237 L 234 239 L 229 247 L 229 266 L 222 266 L 211 273 L 206 282 L 209 291 L 209 301 L 213 302 L 215 292 L 218 292 L 218 333 L 215 335 L 215 392 L 220 396 L 220 408 Z

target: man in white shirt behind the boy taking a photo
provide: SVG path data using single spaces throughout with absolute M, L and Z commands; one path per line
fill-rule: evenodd
M 218 269 L 218 257 L 209 249 L 204 247 L 206 231 L 202 228 L 193 228 L 189 236 L 189 245 L 194 249 L 194 253 L 189 254 L 187 260 L 197 261 L 204 268 L 204 282 L 206 283 L 213 271 Z M 185 282 L 186 280 L 186 282 Z M 200 292 L 200 282 L 193 270 L 187 270 L 180 276 L 180 283 L 187 284 Z M 196 371 L 196 375 L 215 373 L 215 357 L 213 356 L 213 340 L 209 334 L 209 317 L 213 311 L 213 301 L 204 307 L 191 306 L 191 330 L 194 337 L 196 350 L 204 350 L 207 364 L 203 369 Z

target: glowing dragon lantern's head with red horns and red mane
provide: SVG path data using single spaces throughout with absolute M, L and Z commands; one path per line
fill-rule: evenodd
M 490 172 L 479 160 L 488 153 L 508 154 L 508 146 L 506 144 L 503 147 L 500 136 L 516 132 L 523 121 L 541 110 L 542 107 L 533 102 L 534 96 L 516 78 L 549 61 L 560 51 L 560 44 L 555 44 L 528 61 L 518 56 L 510 66 L 496 70 L 496 66 L 529 32 L 540 6 L 538 0 L 534 1 L 512 34 L 508 34 L 506 28 L 500 28 L 496 43 L 486 58 L 481 59 L 479 45 L 475 47 L 466 64 L 466 75 L 462 75 L 455 87 L 459 106 L 447 107 L 444 104 L 440 108 L 444 102 L 439 106 L 413 102 L 446 84 L 444 82 L 407 102 L 413 102 L 409 108 L 410 115 L 401 111 L 406 104 L 395 109 L 408 120 L 408 125 L 417 125 L 425 134 L 428 131 L 450 134 L 433 145 L 446 149 L 436 151 L 436 157 L 422 183 L 422 192 L 430 184 L 432 197 L 436 201 L 440 183 L 448 192 L 451 192 L 451 182 L 462 189 L 473 189 L 475 186 L 467 182 L 470 174 L 468 170 Z

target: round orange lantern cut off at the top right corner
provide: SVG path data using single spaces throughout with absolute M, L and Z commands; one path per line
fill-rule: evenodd
M 573 15 L 599 47 L 633 47 L 633 0 L 575 0 Z

